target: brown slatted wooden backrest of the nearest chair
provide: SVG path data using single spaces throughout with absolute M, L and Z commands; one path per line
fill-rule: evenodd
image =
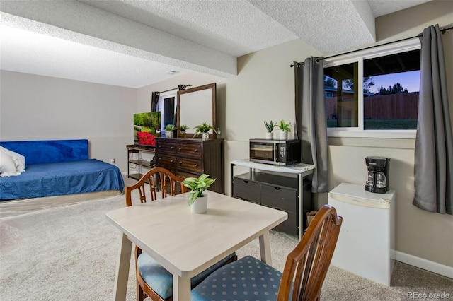
M 319 300 L 343 218 L 324 205 L 287 256 L 277 300 Z M 294 284 L 294 285 L 293 285 Z

